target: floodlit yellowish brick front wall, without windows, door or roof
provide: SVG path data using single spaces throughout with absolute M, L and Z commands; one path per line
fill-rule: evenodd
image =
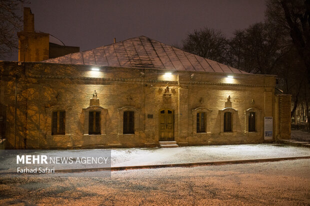
M 271 75 L 234 74 L 227 78 L 223 73 L 178 71 L 165 76 L 156 69 L 102 67 L 91 71 L 84 65 L 34 62 L 21 66 L 0 62 L 0 68 L 0 103 L 6 107 L 9 147 L 24 147 L 24 139 L 26 148 L 157 146 L 159 110 L 163 108 L 174 112 L 174 140 L 181 146 L 262 143 L 263 117 L 275 114 L 275 77 Z M 101 127 L 105 127 L 101 135 L 84 133 L 84 111 L 94 90 L 98 106 L 106 111 L 104 119 L 101 116 Z M 135 134 L 122 134 L 126 106 L 135 111 Z M 223 132 L 221 126 L 227 107 L 233 111 L 231 133 Z M 206 133 L 195 132 L 199 108 L 207 111 Z M 65 135 L 51 135 L 51 111 L 55 109 L 66 111 Z M 248 111 L 257 112 L 255 132 L 246 130 Z

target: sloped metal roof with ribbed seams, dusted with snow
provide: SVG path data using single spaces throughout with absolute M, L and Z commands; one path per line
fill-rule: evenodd
M 247 74 L 245 71 L 182 51 L 145 36 L 46 59 L 42 62 Z

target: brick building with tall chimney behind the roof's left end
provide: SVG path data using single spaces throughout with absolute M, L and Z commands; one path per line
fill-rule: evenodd
M 52 36 L 48 33 L 35 32 L 34 15 L 27 7 L 23 9 L 23 31 L 18 32 L 17 36 L 18 61 L 42 61 L 79 51 L 77 46 L 65 46 L 50 42 Z

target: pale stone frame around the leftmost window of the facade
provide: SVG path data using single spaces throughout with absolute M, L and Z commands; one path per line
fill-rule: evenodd
M 62 134 L 56 134 L 56 135 L 51 135 L 51 121 L 52 121 L 52 113 L 56 112 L 56 111 L 64 111 L 65 112 L 65 122 L 64 122 L 64 135 Z M 61 106 L 61 105 L 54 105 L 51 106 L 49 108 L 46 108 L 46 137 L 59 137 L 59 136 L 70 136 L 70 122 L 71 122 L 71 111 L 72 108 L 71 107 L 67 107 L 67 106 Z

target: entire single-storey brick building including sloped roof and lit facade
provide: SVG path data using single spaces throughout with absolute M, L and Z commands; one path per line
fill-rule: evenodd
M 274 94 L 275 76 L 249 74 L 145 36 L 43 62 L 0 62 L 0 75 L 6 148 L 290 137 L 290 96 Z M 264 133 L 264 117 L 272 117 L 271 133 Z

